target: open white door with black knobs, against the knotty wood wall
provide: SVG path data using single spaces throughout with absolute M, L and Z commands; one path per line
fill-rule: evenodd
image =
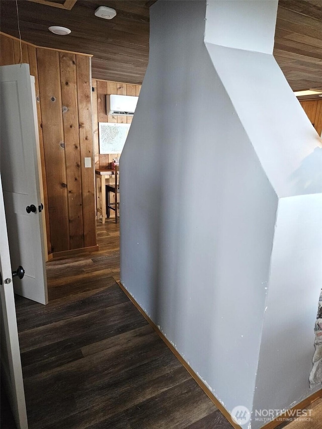
M 29 64 L 0 67 L 0 162 L 13 267 L 25 276 L 14 280 L 15 293 L 47 304 L 39 136 L 35 126 Z

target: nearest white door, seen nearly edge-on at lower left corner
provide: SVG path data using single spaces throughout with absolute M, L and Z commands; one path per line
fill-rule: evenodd
M 1 375 L 19 429 L 27 429 L 27 413 L 21 370 L 16 308 L 11 274 L 4 199 L 0 175 L 0 302 Z

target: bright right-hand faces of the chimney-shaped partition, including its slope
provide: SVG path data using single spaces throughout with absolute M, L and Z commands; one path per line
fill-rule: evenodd
M 267 422 L 261 410 L 288 409 L 312 393 L 307 375 L 322 285 L 321 139 L 271 55 L 265 30 L 273 40 L 268 21 L 274 3 L 209 2 L 206 12 L 209 55 L 279 197 L 252 427 Z M 234 21 L 229 26 L 228 17 L 236 20 L 237 12 L 244 25 Z M 217 21 L 226 28 L 224 41 L 212 33 L 211 23 Z M 246 40 L 240 42 L 236 31 L 245 31 Z M 224 46 L 216 44 L 221 42 Z

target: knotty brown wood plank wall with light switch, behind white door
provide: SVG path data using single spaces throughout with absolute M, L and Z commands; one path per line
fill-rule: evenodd
M 0 65 L 20 62 L 15 38 L 1 34 L 0 49 Z M 48 252 L 96 246 L 91 57 L 23 42 L 22 59 L 36 79 Z

